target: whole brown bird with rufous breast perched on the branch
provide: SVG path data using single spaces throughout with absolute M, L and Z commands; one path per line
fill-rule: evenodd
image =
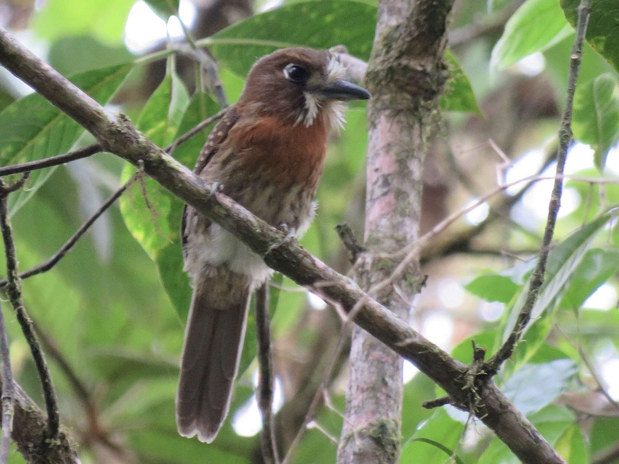
M 370 93 L 344 80 L 329 51 L 288 48 L 259 59 L 235 105 L 209 135 L 194 172 L 290 236 L 314 216 L 327 138 L 342 126 L 342 101 Z M 193 297 L 176 395 L 185 437 L 212 442 L 228 414 L 251 292 L 272 270 L 245 244 L 191 207 L 183 224 Z

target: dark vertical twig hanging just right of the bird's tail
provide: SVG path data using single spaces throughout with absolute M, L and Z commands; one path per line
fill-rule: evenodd
M 258 342 L 258 408 L 262 415 L 262 457 L 266 464 L 279 464 L 275 423 L 273 418 L 273 360 L 271 357 L 271 312 L 269 311 L 269 285 L 256 290 L 256 339 Z

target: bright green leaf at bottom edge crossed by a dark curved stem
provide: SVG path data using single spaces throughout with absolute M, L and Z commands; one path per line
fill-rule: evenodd
M 444 408 L 439 408 L 423 423 L 413 440 L 433 440 L 442 444 L 448 450 L 454 450 L 462 435 L 464 424 L 449 417 Z M 410 441 L 404 445 L 400 455 L 400 463 L 412 464 L 417 462 L 445 462 L 447 456 L 443 449 L 429 445 L 426 442 Z

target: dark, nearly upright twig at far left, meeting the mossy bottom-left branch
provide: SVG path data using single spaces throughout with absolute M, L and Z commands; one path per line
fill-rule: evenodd
M 0 189 L 4 188 L 6 188 L 6 184 L 0 180 Z M 24 337 L 28 342 L 28 346 L 30 346 L 30 351 L 32 351 L 32 357 L 37 365 L 37 371 L 41 379 L 43 395 L 45 397 L 45 406 L 48 417 L 48 433 L 50 434 L 50 438 L 53 438 L 58 434 L 58 427 L 60 424 L 58 399 L 56 398 L 56 390 L 54 390 L 54 384 L 51 380 L 50 370 L 45 362 L 45 356 L 43 356 L 41 345 L 37 340 L 37 335 L 35 335 L 32 327 L 32 321 L 30 320 L 30 317 L 28 317 L 24 306 L 24 301 L 22 299 L 22 284 L 17 273 L 17 256 L 15 254 L 15 242 L 13 241 L 11 219 L 9 218 L 6 194 L 0 194 L 0 228 L 2 229 L 4 254 L 6 255 L 8 278 L 6 291 L 9 299 L 11 300 L 13 309 L 15 310 L 15 316 L 17 316 L 19 325 L 22 327 L 22 332 L 24 332 Z

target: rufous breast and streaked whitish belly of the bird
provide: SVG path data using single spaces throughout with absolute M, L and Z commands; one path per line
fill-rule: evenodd
M 277 145 L 271 144 L 271 137 L 236 140 L 234 132 L 230 131 L 200 176 L 262 220 L 275 227 L 286 225 L 300 238 L 314 217 L 313 199 L 322 174 L 326 140 L 306 139 L 303 132 L 314 131 L 305 127 L 295 131 L 296 140 L 282 137 L 281 132 L 276 134 Z M 295 132 L 291 131 L 290 136 Z M 248 246 L 201 215 L 189 215 L 186 228 L 191 239 L 185 262 L 191 277 L 232 271 L 251 277 L 252 286 L 256 286 L 272 274 Z

